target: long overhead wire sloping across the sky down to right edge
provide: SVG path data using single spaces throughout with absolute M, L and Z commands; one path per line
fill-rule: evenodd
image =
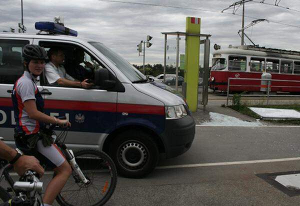
M 220 13 L 220 11 L 218 11 L 218 10 L 210 10 L 210 9 L 204 9 L 204 8 L 189 8 L 189 7 L 171 6 L 171 5 L 161 5 L 161 4 L 154 4 L 154 3 L 139 3 L 139 2 L 130 2 L 130 1 L 121 1 L 121 0 L 99 0 L 99 1 L 115 2 L 115 3 L 127 3 L 127 4 L 138 4 L 138 5 L 148 5 L 148 6 L 159 6 L 159 7 L 188 9 L 188 10 L 201 10 L 201 11 L 207 11 L 207 12 Z M 254 2 L 254 1 L 252 1 L 252 2 Z M 233 13 L 228 13 L 228 12 L 222 12 L 222 13 L 242 16 L 241 14 L 237 14 L 237 13 L 234 13 L 234 14 Z M 248 17 L 248 18 L 252 18 L 252 19 L 259 18 L 259 17 L 247 16 L 247 15 L 244 15 L 244 16 Z M 287 26 L 291 26 L 291 27 L 300 28 L 300 26 L 289 24 L 289 23 L 284 23 L 284 22 L 280 22 L 280 21 L 275 21 L 275 20 L 270 20 L 270 19 L 268 19 L 268 21 L 272 22 L 272 23 L 281 24 L 281 25 L 287 25 Z

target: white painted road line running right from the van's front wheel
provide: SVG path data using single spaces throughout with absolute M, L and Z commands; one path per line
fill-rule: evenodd
M 254 164 L 254 163 L 268 163 L 279 161 L 294 161 L 300 160 L 300 157 L 281 158 L 281 159 L 260 159 L 260 160 L 247 160 L 247 161 L 227 161 L 227 162 L 214 162 L 214 163 L 199 163 L 199 164 L 178 164 L 169 166 L 156 166 L 156 169 L 171 169 L 171 168 L 188 168 L 188 167 L 202 167 L 202 166 L 223 166 L 234 164 Z

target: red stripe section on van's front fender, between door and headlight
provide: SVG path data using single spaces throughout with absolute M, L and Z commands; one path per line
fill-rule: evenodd
M 164 115 L 164 106 L 120 103 L 117 112 Z

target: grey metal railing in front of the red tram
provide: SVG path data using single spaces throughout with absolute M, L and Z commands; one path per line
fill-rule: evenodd
M 228 78 L 228 82 L 227 82 L 227 99 L 226 99 L 226 106 L 228 106 L 228 101 L 229 101 L 229 97 L 233 96 L 234 94 L 229 94 L 229 89 L 230 86 L 255 86 L 255 87 L 260 87 L 260 83 L 259 85 L 250 85 L 250 84 L 230 84 L 230 80 L 265 80 L 267 81 L 267 87 L 266 87 L 266 93 L 265 94 L 239 94 L 240 96 L 265 96 L 266 97 L 266 105 L 268 105 L 269 103 L 269 97 L 273 97 L 273 96 L 280 96 L 280 97 L 300 97 L 300 95 L 284 95 L 284 94 L 270 94 L 270 88 L 271 87 L 286 87 L 286 85 L 275 85 L 275 86 L 271 86 L 271 81 L 286 81 L 286 82 L 298 82 L 299 86 L 289 86 L 289 87 L 293 87 L 293 88 L 299 88 L 300 90 L 300 80 L 284 80 L 284 79 L 263 79 L 263 78 Z

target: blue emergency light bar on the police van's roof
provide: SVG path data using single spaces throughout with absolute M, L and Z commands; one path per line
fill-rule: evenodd
M 47 31 L 49 33 L 77 36 L 77 31 L 50 21 L 37 21 L 34 26 L 37 30 Z

